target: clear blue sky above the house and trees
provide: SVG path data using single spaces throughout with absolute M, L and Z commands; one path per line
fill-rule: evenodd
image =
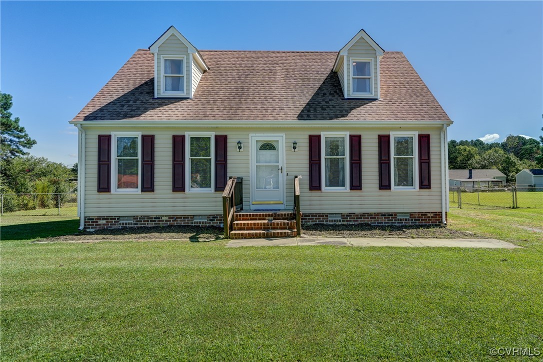
M 0 87 L 37 140 L 77 161 L 68 124 L 138 48 L 175 26 L 199 49 L 339 50 L 364 28 L 401 50 L 454 120 L 450 139 L 538 137 L 542 2 L 0 2 Z

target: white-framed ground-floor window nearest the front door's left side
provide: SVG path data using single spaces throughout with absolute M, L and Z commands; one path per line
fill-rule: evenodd
M 189 192 L 214 192 L 215 134 L 187 132 L 187 189 Z

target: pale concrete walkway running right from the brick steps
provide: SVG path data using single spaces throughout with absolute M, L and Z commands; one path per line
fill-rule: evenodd
M 497 239 L 436 239 L 436 238 L 280 238 L 280 239 L 239 239 L 231 240 L 226 247 L 241 246 L 296 246 L 296 245 L 337 245 L 337 246 L 449 246 L 488 247 L 492 249 L 514 249 L 515 244 Z

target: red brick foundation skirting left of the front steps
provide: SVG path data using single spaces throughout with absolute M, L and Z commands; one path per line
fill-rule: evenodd
M 194 219 L 194 215 L 177 216 L 134 216 L 132 221 L 121 221 L 118 216 L 93 216 L 85 218 L 85 230 L 98 230 L 103 228 L 121 228 L 137 226 L 169 226 L 169 225 L 198 225 L 222 226 L 223 215 L 204 215 L 207 221 Z M 197 217 L 198 218 L 198 217 Z

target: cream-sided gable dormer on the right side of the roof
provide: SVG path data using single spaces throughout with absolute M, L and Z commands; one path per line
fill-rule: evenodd
M 333 70 L 338 74 L 344 98 L 380 97 L 379 62 L 383 54 L 383 48 L 364 29 L 339 50 Z

